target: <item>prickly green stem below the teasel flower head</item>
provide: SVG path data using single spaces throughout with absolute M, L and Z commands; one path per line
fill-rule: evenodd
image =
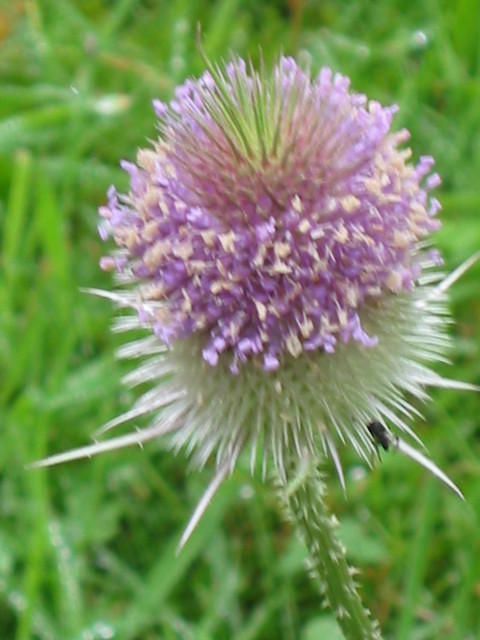
M 313 464 L 305 466 L 300 475 L 297 471 L 296 477 L 281 481 L 280 489 L 307 546 L 312 574 L 345 638 L 380 640 L 378 623 L 361 603 L 353 579 L 355 571 L 348 566 L 345 547 L 335 535 L 337 521 L 325 505 L 325 484 L 320 472 Z

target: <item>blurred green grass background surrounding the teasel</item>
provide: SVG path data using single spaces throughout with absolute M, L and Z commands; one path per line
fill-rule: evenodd
M 480 248 L 478 0 L 0 1 L 0 638 L 334 640 L 271 486 L 240 465 L 180 556 L 211 469 L 153 443 L 41 471 L 129 407 L 115 361 L 97 207 L 155 135 L 153 97 L 230 50 L 327 63 L 397 102 L 443 177 L 448 268 Z M 480 382 L 480 268 L 452 291 L 452 377 Z M 447 370 L 444 369 L 443 372 Z M 480 638 L 480 400 L 436 391 L 415 425 L 462 504 L 395 454 L 343 451 L 339 516 L 386 638 Z

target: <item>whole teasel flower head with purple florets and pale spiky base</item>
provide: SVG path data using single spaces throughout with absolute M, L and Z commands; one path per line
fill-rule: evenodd
M 100 209 L 116 251 L 101 266 L 133 309 L 116 328 L 146 328 L 121 355 L 144 358 L 128 384 L 150 391 L 121 423 L 143 429 L 58 462 L 165 435 L 217 472 L 188 535 L 238 456 L 280 476 L 286 460 L 330 457 L 339 444 L 374 460 L 372 421 L 392 444 L 451 481 L 394 433 L 430 385 L 468 387 L 430 369 L 448 338 L 439 254 L 440 179 L 411 161 L 395 106 L 350 89 L 328 68 L 312 78 L 288 57 L 270 73 L 234 58 L 208 64 L 169 104 L 158 139 L 124 162 L 130 190 Z M 413 454 L 412 454 L 413 452 Z

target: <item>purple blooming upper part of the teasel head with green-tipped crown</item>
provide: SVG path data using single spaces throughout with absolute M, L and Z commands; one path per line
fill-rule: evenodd
M 131 190 L 101 210 L 102 233 L 128 256 L 120 273 L 148 282 L 141 304 L 170 341 L 198 336 L 232 372 L 375 345 L 359 311 L 413 288 L 418 242 L 438 228 L 433 160 L 408 164 L 396 108 L 282 58 L 268 79 L 234 60 L 155 111 L 160 140 L 122 164 Z

